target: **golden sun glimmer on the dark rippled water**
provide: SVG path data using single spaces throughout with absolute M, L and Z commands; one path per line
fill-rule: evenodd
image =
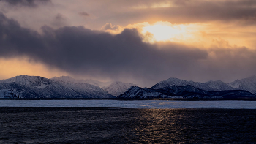
M 148 112 L 150 111 L 150 112 Z M 140 137 L 140 143 L 175 143 L 178 139 L 184 139 L 184 126 L 181 121 L 186 119 L 182 113 L 171 113 L 175 110 L 152 109 L 141 110 L 140 120 L 142 123 L 135 128 L 136 135 Z M 182 141 L 182 140 L 181 140 Z

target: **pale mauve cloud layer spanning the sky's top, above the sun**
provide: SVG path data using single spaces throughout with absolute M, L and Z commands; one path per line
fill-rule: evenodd
M 7 2 L 0 3 L 0 12 L 4 12 L 8 18 L 18 20 L 23 27 L 35 30 L 44 25 L 53 26 L 51 18 L 57 13 L 65 15 L 70 26 L 83 25 L 89 29 L 100 29 L 106 23 L 127 26 L 143 22 L 152 24 L 157 21 L 173 24 L 217 21 L 239 26 L 256 26 L 255 0 L 53 0 L 47 4 L 34 0 L 20 3 L 12 4 L 15 7 L 10 7 Z M 28 4 L 31 7 L 41 5 L 37 9 L 24 7 Z

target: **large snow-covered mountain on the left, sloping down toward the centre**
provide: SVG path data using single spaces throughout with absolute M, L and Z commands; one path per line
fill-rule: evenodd
M 20 98 L 113 98 L 102 88 L 89 83 L 68 83 L 45 77 L 20 75 L 0 80 L 1 97 Z M 4 91 L 4 92 L 3 92 Z M 14 91 L 14 92 L 5 92 Z M 15 96 L 10 96 L 10 94 Z

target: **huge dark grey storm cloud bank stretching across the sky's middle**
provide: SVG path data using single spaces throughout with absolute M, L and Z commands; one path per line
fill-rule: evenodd
M 24 29 L 0 14 L 0 57 L 28 56 L 74 75 L 133 77 L 147 85 L 168 77 L 205 80 L 256 72 L 256 53 L 248 48 L 200 50 L 172 42 L 148 44 L 136 29 L 117 35 L 83 26 L 43 26 L 42 31 Z

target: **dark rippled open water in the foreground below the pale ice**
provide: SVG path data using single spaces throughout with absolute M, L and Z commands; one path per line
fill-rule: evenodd
M 0 107 L 0 143 L 256 143 L 256 110 Z

